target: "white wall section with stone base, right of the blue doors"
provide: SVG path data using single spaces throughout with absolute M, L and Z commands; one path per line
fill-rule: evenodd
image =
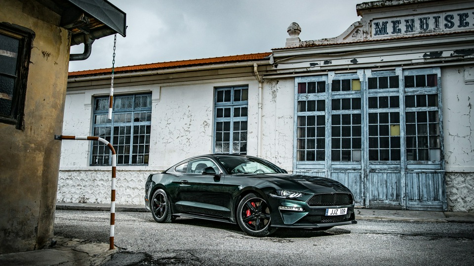
M 469 66 L 441 69 L 448 210 L 474 212 L 474 83 Z

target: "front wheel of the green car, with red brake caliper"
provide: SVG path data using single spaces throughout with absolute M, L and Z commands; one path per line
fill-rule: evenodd
M 267 201 L 255 194 L 243 197 L 237 206 L 237 224 L 243 232 L 251 236 L 267 236 L 275 233 L 271 225 L 270 209 Z

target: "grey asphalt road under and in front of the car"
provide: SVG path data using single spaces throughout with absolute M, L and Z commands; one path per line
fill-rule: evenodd
M 55 235 L 108 242 L 110 213 L 56 211 Z M 118 212 L 108 266 L 474 265 L 474 224 L 361 220 L 325 232 L 279 229 L 251 237 L 237 225 Z

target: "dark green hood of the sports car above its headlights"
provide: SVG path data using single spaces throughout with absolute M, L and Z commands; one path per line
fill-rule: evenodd
M 325 177 L 300 174 L 259 174 L 254 177 L 265 179 L 285 190 L 312 193 L 351 193 L 343 184 Z

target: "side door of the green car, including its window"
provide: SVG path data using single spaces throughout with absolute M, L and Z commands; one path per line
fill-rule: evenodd
M 216 174 L 202 173 L 202 170 L 209 166 Z M 201 158 L 188 162 L 186 173 L 178 181 L 178 198 L 176 205 L 185 213 L 230 216 L 231 196 L 226 191 L 224 175 L 210 159 Z

